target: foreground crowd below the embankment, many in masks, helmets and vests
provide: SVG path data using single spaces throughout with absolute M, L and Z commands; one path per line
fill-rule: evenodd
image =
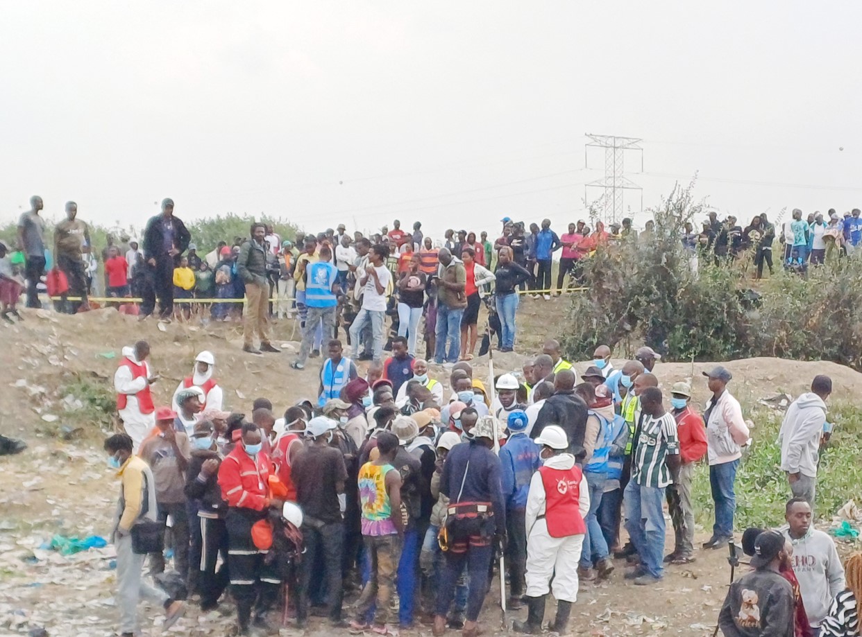
M 540 634 L 553 595 L 551 629 L 565 634 L 582 583 L 613 581 L 623 564 L 622 580 L 648 586 L 696 560 L 691 494 L 702 460 L 715 524 L 701 550 L 734 543 L 734 485 L 750 432 L 727 368 L 703 372 L 711 397 L 700 411 L 690 383 L 659 387 L 661 357 L 648 347 L 615 368 L 599 345 L 578 374 L 549 339 L 487 386 L 469 362 L 433 378 L 404 337 L 364 373 L 339 340 L 327 354 L 314 393 L 281 417 L 257 399 L 247 418 L 226 408 L 233 393 L 211 352 L 196 356 L 172 405 L 159 406 L 148 344 L 123 349 L 114 379 L 123 433 L 105 442 L 122 481 L 123 635 L 137 630 L 145 595 L 164 605 L 166 624 L 185 610 L 174 597 L 197 596 L 203 611 L 232 602 L 238 634 L 275 634 L 319 615 L 354 634 L 428 622 L 438 637 L 454 628 L 474 637 L 501 556 L 501 602 L 527 609 L 515 631 Z M 862 554 L 845 576 L 834 542 L 812 524 L 831 391 L 816 376 L 786 412 L 786 526 L 742 534 L 754 571 L 728 592 L 726 635 L 857 634 Z M 150 572 L 166 568 L 150 540 L 169 519 L 186 589 L 174 597 L 143 579 L 146 554 Z

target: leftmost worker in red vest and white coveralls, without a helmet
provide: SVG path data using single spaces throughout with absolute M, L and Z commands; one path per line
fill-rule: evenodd
M 159 380 L 159 376 L 153 375 L 146 362 L 149 355 L 150 345 L 147 341 L 138 341 L 134 347 L 124 347 L 120 366 L 114 374 L 116 409 L 123 428 L 132 438 L 134 454 L 138 453 L 141 441 L 156 425 L 150 385 Z

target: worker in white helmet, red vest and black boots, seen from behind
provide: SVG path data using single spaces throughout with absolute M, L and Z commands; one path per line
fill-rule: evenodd
M 553 578 L 557 616 L 551 630 L 565 634 L 572 603 L 578 599 L 578 560 L 584 544 L 584 517 L 590 491 L 575 456 L 568 453 L 562 427 L 548 425 L 534 442 L 542 466 L 533 474 L 527 496 L 527 622 L 515 622 L 519 633 L 540 634 L 545 598 Z

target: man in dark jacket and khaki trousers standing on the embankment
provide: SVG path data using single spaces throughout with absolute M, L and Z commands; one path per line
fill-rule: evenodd
M 266 280 L 267 245 L 264 241 L 266 226 L 252 224 L 252 237 L 240 246 L 240 256 L 236 257 L 237 274 L 246 283 L 246 316 L 242 325 L 242 351 L 249 354 L 272 352 L 281 349 L 270 343 L 269 328 L 269 281 Z M 260 349 L 254 347 L 252 339 L 257 331 Z

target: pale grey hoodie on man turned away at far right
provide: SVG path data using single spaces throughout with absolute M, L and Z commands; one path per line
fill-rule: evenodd
M 817 477 L 817 451 L 825 422 L 826 404 L 817 394 L 803 393 L 790 404 L 778 432 L 782 471 Z

